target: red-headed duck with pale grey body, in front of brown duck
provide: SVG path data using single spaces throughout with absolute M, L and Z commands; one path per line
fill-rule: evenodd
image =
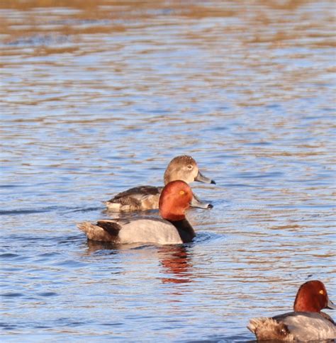
M 77 227 L 89 240 L 99 242 L 181 244 L 195 237 L 193 227 L 186 220 L 184 211 L 195 201 L 186 182 L 169 182 L 159 198 L 160 218 L 135 220 L 99 220 L 95 225 L 84 222 Z

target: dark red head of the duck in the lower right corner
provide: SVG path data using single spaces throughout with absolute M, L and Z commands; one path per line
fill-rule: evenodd
M 296 294 L 294 311 L 320 313 L 323 308 L 336 309 L 336 305 L 327 296 L 323 282 L 313 280 L 303 283 Z

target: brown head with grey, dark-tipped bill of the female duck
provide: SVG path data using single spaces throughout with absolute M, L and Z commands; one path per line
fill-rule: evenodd
M 164 184 L 168 184 L 170 181 L 174 180 L 183 180 L 187 184 L 190 184 L 193 181 L 215 184 L 215 181 L 208 179 L 208 177 L 201 174 L 201 171 L 198 170 L 196 161 L 191 156 L 187 155 L 174 157 L 168 164 L 168 167 L 164 172 Z

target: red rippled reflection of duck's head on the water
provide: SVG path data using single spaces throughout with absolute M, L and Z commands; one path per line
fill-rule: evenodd
M 164 273 L 171 274 L 171 277 L 162 278 L 163 283 L 188 283 L 192 281 L 191 256 L 183 245 L 169 245 L 159 247 L 160 264 Z

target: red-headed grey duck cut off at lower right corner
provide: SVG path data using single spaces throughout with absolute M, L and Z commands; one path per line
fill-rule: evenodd
M 336 309 L 329 300 L 325 285 L 318 280 L 303 283 L 298 288 L 294 301 L 294 312 L 275 317 L 254 318 L 247 328 L 259 341 L 312 341 L 335 339 L 336 326 L 323 308 Z

